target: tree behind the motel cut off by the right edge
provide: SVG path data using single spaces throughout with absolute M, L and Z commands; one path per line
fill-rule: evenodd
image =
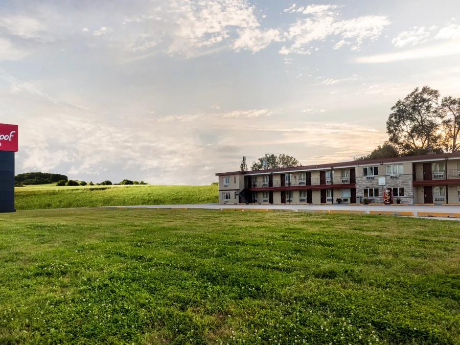
M 448 152 L 460 150 L 460 98 L 444 97 L 439 107 L 443 118 L 444 147 Z

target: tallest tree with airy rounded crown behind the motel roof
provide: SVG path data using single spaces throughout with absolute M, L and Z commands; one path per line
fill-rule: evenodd
M 389 143 L 402 154 L 414 151 L 428 153 L 430 149 L 441 146 L 439 97 L 439 91 L 429 86 L 416 87 L 392 107 L 386 132 Z

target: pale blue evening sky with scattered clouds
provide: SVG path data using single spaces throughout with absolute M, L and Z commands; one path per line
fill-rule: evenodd
M 0 0 L 16 173 L 205 185 L 243 155 L 351 160 L 423 85 L 460 97 L 458 0 Z

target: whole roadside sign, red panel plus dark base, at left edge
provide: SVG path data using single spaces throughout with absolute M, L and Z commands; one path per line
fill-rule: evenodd
M 18 150 L 18 127 L 0 123 L 0 213 L 15 212 L 14 152 Z

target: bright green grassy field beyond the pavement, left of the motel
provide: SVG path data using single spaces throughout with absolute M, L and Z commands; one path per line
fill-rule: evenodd
M 15 188 L 17 210 L 218 202 L 217 186 L 84 186 Z

